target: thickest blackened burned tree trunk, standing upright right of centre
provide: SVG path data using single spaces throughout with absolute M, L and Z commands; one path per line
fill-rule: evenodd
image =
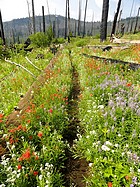
M 105 41 L 107 37 L 108 10 L 109 10 L 109 0 L 103 0 L 101 30 L 100 30 L 101 42 Z

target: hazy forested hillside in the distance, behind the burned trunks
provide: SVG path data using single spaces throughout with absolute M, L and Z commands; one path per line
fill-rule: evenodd
M 65 35 L 65 17 L 61 15 L 46 15 L 45 16 L 45 28 L 47 29 L 50 26 L 50 20 L 52 22 L 53 30 L 56 38 L 64 37 Z M 134 26 L 136 22 L 136 17 L 121 19 L 119 23 L 117 23 L 117 33 L 120 33 L 121 24 L 125 25 L 125 33 L 133 32 Z M 42 16 L 35 16 L 36 23 L 36 32 L 43 32 L 43 20 Z M 129 24 L 129 28 L 127 28 Z M 12 21 L 4 22 L 4 33 L 5 38 L 8 43 L 22 43 L 25 41 L 28 36 L 31 34 L 32 30 L 32 20 L 29 18 L 20 18 L 14 19 Z M 86 35 L 87 36 L 96 36 L 99 37 L 100 34 L 100 25 L 101 22 L 86 22 Z M 113 22 L 109 21 L 107 23 L 107 32 L 108 35 L 111 33 Z M 82 36 L 84 21 L 81 21 L 80 35 Z M 138 29 L 140 27 L 140 17 L 138 18 Z M 70 19 L 70 28 L 71 35 L 73 37 L 77 36 L 78 33 L 78 20 L 71 18 Z

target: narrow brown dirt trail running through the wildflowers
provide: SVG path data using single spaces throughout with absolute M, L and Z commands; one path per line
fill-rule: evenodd
M 71 60 L 71 56 L 70 56 Z M 68 100 L 68 115 L 70 123 L 67 131 L 64 134 L 64 139 L 68 141 L 70 147 L 73 141 L 77 138 L 77 127 L 80 125 L 78 119 L 78 99 L 80 95 L 79 75 L 74 67 L 72 60 L 72 89 Z M 88 173 L 88 163 L 85 159 L 74 158 L 70 150 L 66 150 L 67 160 L 65 162 L 65 187 L 85 187 L 84 177 Z

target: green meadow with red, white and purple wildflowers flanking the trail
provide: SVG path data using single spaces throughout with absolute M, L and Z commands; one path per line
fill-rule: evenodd
M 129 66 L 140 64 L 140 45 L 113 44 L 103 51 L 105 45 L 112 44 L 85 38 L 73 39 L 58 55 L 48 48 L 11 52 L 8 60 L 34 76 L 0 60 L 0 137 L 5 148 L 0 152 L 0 187 L 66 186 L 66 150 L 88 164 L 83 186 L 140 186 L 140 68 Z M 44 58 L 36 59 L 40 53 Z M 111 63 L 108 58 L 128 64 Z M 44 71 L 52 59 L 52 67 Z M 73 70 L 80 85 L 77 98 L 72 96 L 77 92 Z M 32 84 L 40 74 L 45 80 L 34 90 Z M 29 88 L 33 96 L 24 112 L 17 111 Z M 76 111 L 77 124 L 71 110 Z M 14 124 L 7 123 L 12 112 Z M 70 123 L 76 125 L 72 143 L 65 135 Z M 69 186 L 77 185 L 73 177 L 68 180 Z

